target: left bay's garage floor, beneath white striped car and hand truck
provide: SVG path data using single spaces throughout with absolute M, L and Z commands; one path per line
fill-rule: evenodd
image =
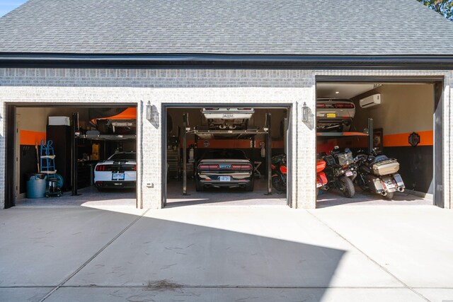
M 99 192 L 96 187 L 85 187 L 77 190 L 79 196 L 64 192 L 62 197 L 19 199 L 17 207 L 96 207 L 96 206 L 130 206 L 136 207 L 135 190 L 105 190 Z

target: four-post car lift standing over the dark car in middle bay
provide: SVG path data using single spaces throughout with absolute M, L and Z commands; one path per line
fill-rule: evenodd
M 262 130 L 259 129 L 246 129 L 246 130 L 198 130 L 192 129 L 189 125 L 189 114 L 183 114 L 183 195 L 187 195 L 187 135 L 194 134 L 195 135 L 195 143 L 198 141 L 198 137 L 200 136 L 208 136 L 208 135 L 221 135 L 227 134 L 229 137 L 234 137 L 236 139 L 251 139 L 252 146 L 253 146 L 253 155 L 255 150 L 255 137 L 258 134 L 265 135 L 265 148 L 266 148 L 266 174 L 268 175 L 268 193 L 267 195 L 272 194 L 272 169 L 271 169 L 271 158 L 272 158 L 272 137 L 271 137 L 271 124 L 270 124 L 270 113 L 266 113 L 265 119 L 265 126 Z M 195 154 L 196 158 L 196 154 Z M 254 159 L 254 158 L 252 158 Z M 194 169 L 195 173 L 195 169 Z M 253 177 L 255 177 L 255 173 L 253 173 Z

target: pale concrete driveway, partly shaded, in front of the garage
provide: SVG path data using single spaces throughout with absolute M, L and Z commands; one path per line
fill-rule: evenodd
M 430 206 L 16 207 L 0 301 L 449 301 L 452 229 Z

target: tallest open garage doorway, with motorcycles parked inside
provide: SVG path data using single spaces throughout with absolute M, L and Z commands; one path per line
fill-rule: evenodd
M 380 80 L 316 85 L 317 207 L 434 203 L 437 84 Z

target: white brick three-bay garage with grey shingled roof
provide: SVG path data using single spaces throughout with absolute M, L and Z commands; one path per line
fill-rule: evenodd
M 316 158 L 335 157 L 338 146 L 351 158 L 378 147 L 398 161 L 405 186 L 396 197 L 451 208 L 453 23 L 412 0 L 328 6 L 30 0 L 8 13 L 0 207 L 35 202 L 28 175 L 52 156 L 35 147 L 62 143 L 48 127 L 64 117 L 70 151 L 55 156 L 65 163 L 55 168 L 64 170 L 63 197 L 43 203 L 121 194 L 117 202 L 150 209 L 382 202 L 382 190 L 357 182 L 359 170 L 350 180 L 357 196 L 343 198 L 340 186 L 318 194 Z M 340 113 L 352 109 L 353 117 Z M 115 119 L 127 110 L 134 115 Z M 107 167 L 121 152 L 135 162 L 112 158 Z M 96 171 L 110 180 L 96 181 Z M 103 190 L 123 180 L 134 188 Z

